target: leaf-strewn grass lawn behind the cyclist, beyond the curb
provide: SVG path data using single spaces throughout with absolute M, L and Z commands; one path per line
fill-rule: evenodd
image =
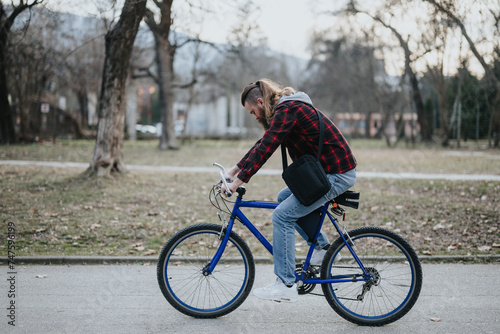
M 159 151 L 156 141 L 126 142 L 127 164 L 209 167 L 233 165 L 252 142 L 192 141 L 178 151 Z M 90 162 L 92 141 L 0 146 L 0 160 Z M 388 149 L 353 141 L 359 171 L 500 175 L 498 150 Z M 279 169 L 275 154 L 265 168 Z M 16 255 L 155 255 L 184 226 L 218 221 L 208 201 L 214 173 L 130 171 L 88 179 L 79 168 L 0 165 L 0 235 L 16 226 Z M 279 176 L 254 176 L 247 199 L 274 200 Z M 359 178 L 359 210 L 346 227 L 382 226 L 408 239 L 421 255 L 500 254 L 500 182 Z M 249 218 L 272 237 L 271 212 Z M 326 227 L 333 241 L 333 228 Z M 241 226 L 237 233 L 254 255 L 267 255 Z M 297 239 L 298 253 L 306 243 Z M 6 242 L 0 244 L 6 254 Z

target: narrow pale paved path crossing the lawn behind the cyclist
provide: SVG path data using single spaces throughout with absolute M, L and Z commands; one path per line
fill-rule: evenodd
M 24 160 L 0 160 L 0 165 L 17 166 L 47 166 L 47 167 L 73 167 L 88 168 L 88 163 L 79 162 L 51 162 L 51 161 L 24 161 Z M 189 173 L 214 173 L 214 167 L 189 167 L 189 166 L 146 166 L 127 165 L 129 170 L 147 171 L 174 171 Z M 279 169 L 261 169 L 259 175 L 281 175 Z M 500 175 L 488 174 L 427 174 L 427 173 L 384 173 L 384 172 L 356 172 L 358 178 L 384 178 L 384 179 L 419 179 L 419 180 L 451 180 L 451 181 L 500 181 Z

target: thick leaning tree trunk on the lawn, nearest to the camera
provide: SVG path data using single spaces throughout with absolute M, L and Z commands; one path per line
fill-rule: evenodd
M 139 24 L 146 11 L 146 0 L 126 0 L 120 20 L 106 34 L 101 96 L 98 104 L 99 122 L 94 156 L 89 167 L 97 176 L 125 172 L 123 138 L 126 94 L 130 57 Z

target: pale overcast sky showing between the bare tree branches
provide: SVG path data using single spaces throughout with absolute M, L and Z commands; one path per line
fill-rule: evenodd
M 121 7 L 124 0 L 117 0 L 118 5 L 114 13 L 109 11 L 109 0 L 47 0 L 45 3 L 53 10 L 72 12 L 79 15 L 94 15 L 100 16 L 97 10 L 99 4 L 101 7 L 108 9 L 108 16 L 118 17 L 121 12 Z M 216 43 L 227 43 L 228 35 L 232 27 L 234 27 L 241 17 L 238 16 L 236 8 L 238 4 L 244 4 L 246 0 L 198 0 L 191 1 L 194 4 L 202 4 L 203 10 L 195 11 L 195 15 L 189 12 L 186 7 L 187 1 L 175 0 L 173 3 L 175 29 L 191 34 L 200 34 L 200 38 Z M 309 39 L 315 29 L 324 29 L 339 24 L 332 15 L 320 15 L 325 11 L 333 11 L 343 8 L 347 0 L 253 0 L 259 7 L 258 10 L 252 11 L 250 20 L 256 21 L 260 26 L 262 34 L 268 39 L 268 46 L 275 51 L 295 55 L 301 58 L 308 59 L 310 57 Z M 378 0 L 364 0 L 361 4 L 370 4 L 372 6 Z M 465 0 L 464 0 L 465 1 Z M 499 1 L 499 0 L 488 0 Z M 104 5 L 103 5 L 104 4 Z M 153 8 L 151 4 L 150 8 Z M 401 12 L 399 16 L 406 17 L 405 22 L 401 22 L 398 29 L 402 29 L 403 34 L 410 34 L 418 27 L 416 22 L 409 19 L 409 13 Z M 474 14 L 472 17 L 474 17 Z M 418 12 L 411 15 L 419 15 Z M 366 16 L 358 15 L 359 20 L 364 18 L 365 21 L 359 21 L 360 26 L 364 26 L 370 21 Z M 468 28 L 472 31 L 476 25 L 469 25 Z M 405 31 L 406 30 L 406 31 Z M 455 32 L 456 33 L 456 32 Z M 386 35 L 387 39 L 393 39 L 391 32 L 381 27 L 378 28 L 378 35 Z M 460 34 L 457 34 L 457 37 Z M 380 38 L 380 36 L 379 36 Z M 382 37 L 384 39 L 384 37 Z M 463 48 L 458 50 L 458 40 L 451 45 L 449 55 L 447 55 L 447 63 L 452 71 L 456 71 L 458 61 L 457 54 L 459 52 L 468 52 L 468 47 L 463 45 Z M 397 43 L 396 43 L 397 44 Z M 483 52 L 484 53 L 484 52 Z M 486 52 L 487 54 L 487 52 Z M 426 55 L 426 59 L 433 63 L 433 55 Z M 401 75 L 404 67 L 402 52 L 395 48 L 391 57 L 387 58 L 386 54 L 386 70 L 393 75 Z M 426 63 L 416 64 L 420 69 L 426 69 Z M 478 69 L 481 72 L 475 59 L 471 61 L 471 67 Z M 446 69 L 445 69 L 446 71 Z

